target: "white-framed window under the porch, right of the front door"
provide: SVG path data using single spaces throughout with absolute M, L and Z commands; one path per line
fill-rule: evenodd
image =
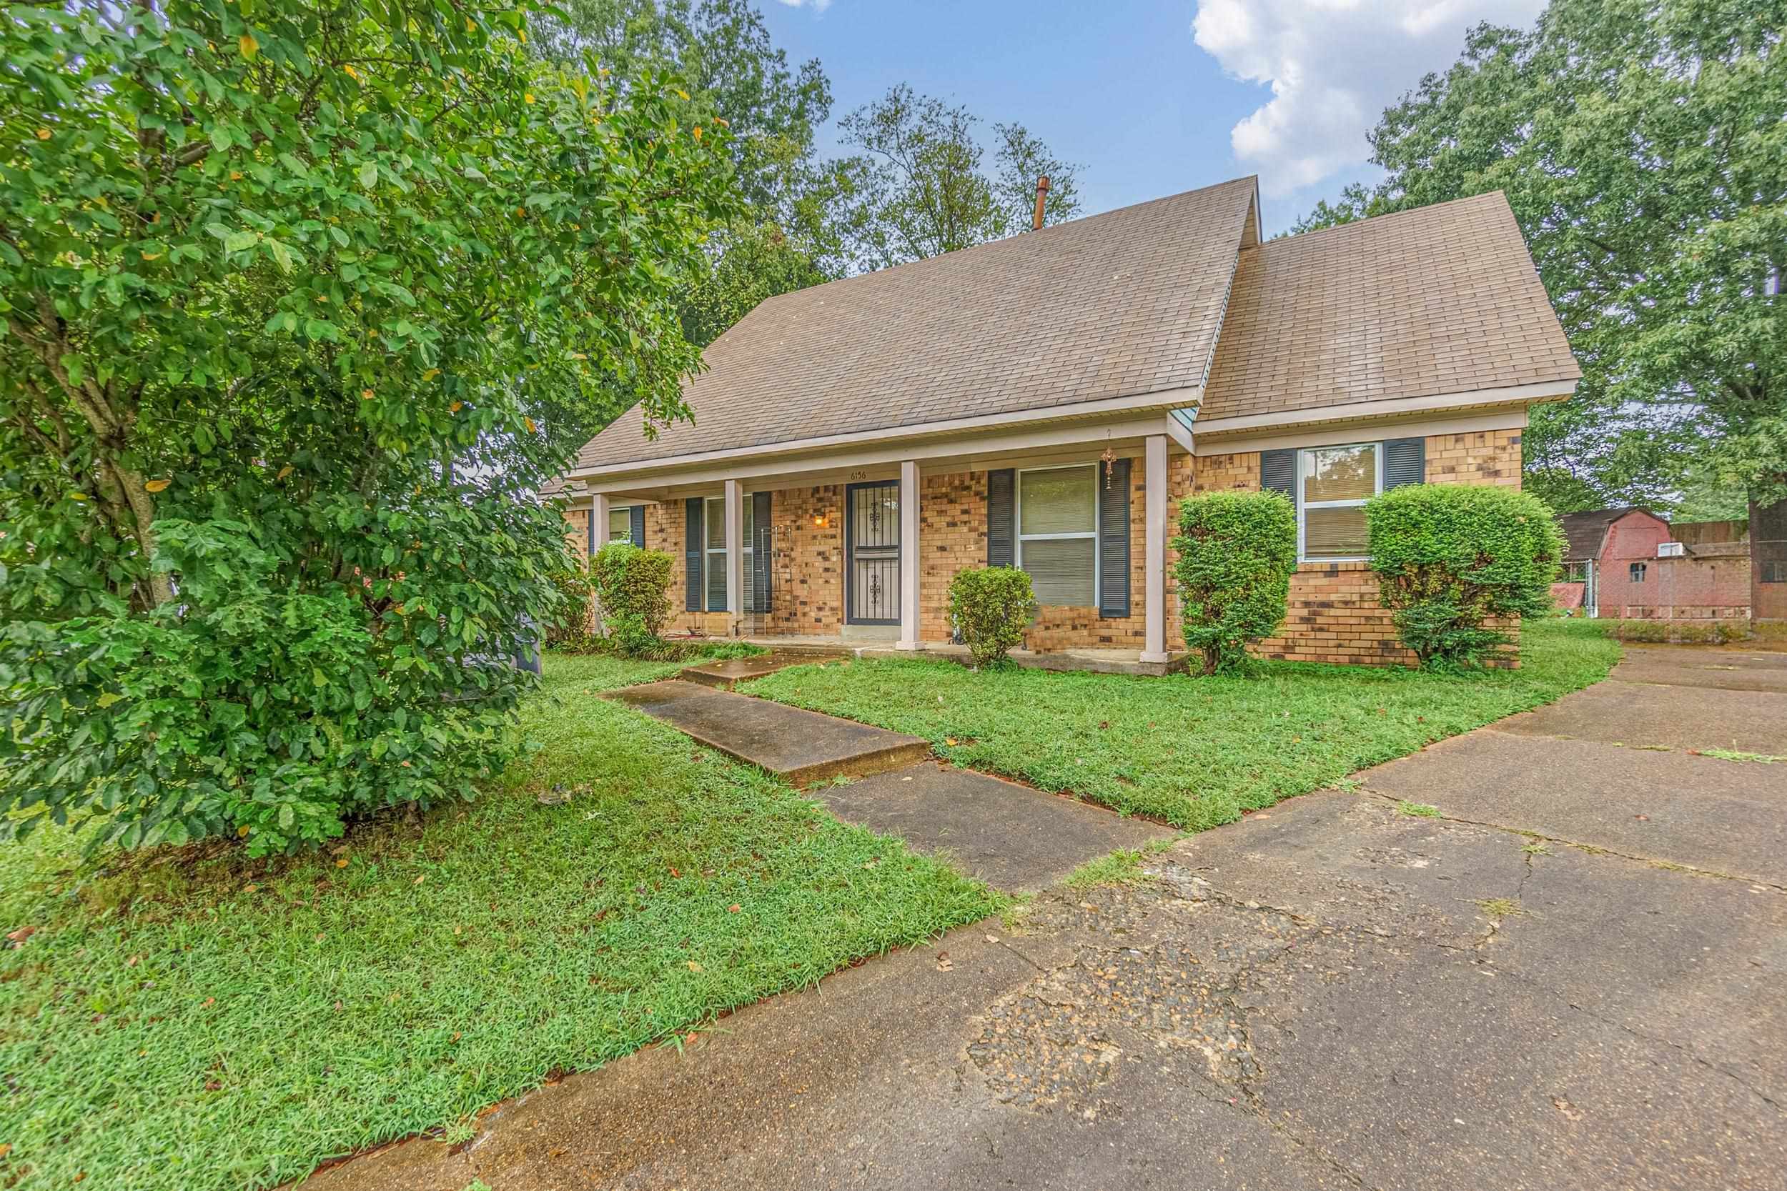
M 1017 473 L 1017 564 L 1036 604 L 1097 607 L 1097 464 Z

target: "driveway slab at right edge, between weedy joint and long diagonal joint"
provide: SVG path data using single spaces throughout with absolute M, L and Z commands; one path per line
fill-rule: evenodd
M 1787 886 L 1787 764 L 1481 730 L 1355 779 L 1460 820 Z

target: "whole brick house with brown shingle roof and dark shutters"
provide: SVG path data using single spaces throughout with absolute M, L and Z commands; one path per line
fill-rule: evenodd
M 693 423 L 634 409 L 566 475 L 570 541 L 677 559 L 675 629 L 951 639 L 949 580 L 1022 566 L 1036 652 L 1178 645 L 1179 496 L 1297 505 L 1269 657 L 1405 661 L 1371 495 L 1521 482 L 1578 368 L 1506 200 L 1262 239 L 1238 179 L 768 298 L 706 352 Z

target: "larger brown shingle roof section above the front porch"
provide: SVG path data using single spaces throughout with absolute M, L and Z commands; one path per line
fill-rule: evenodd
M 649 441 L 633 409 L 577 466 L 1197 386 L 1253 195 L 1237 179 L 768 298 L 708 348 L 693 425 Z

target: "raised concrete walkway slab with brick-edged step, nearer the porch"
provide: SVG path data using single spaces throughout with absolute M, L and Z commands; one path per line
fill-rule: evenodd
M 613 698 L 656 716 L 729 757 L 749 761 L 795 786 L 829 777 L 881 773 L 924 761 L 931 743 L 695 682 L 649 682 Z

